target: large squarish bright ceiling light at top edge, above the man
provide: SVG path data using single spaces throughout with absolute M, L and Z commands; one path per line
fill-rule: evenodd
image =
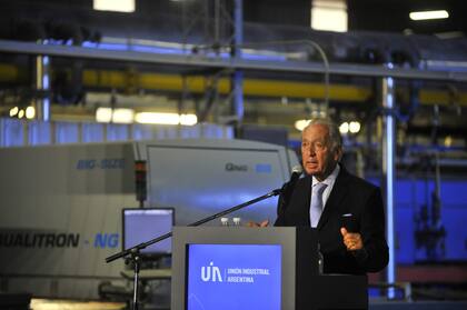
M 346 32 L 347 4 L 342 0 L 312 1 L 311 7 L 311 28 L 316 30 L 327 30 Z

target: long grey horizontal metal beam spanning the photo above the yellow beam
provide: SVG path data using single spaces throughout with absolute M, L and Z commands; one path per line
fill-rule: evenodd
M 22 54 L 47 54 L 52 57 L 67 57 L 95 60 L 116 60 L 153 64 L 172 64 L 187 67 L 225 68 L 231 70 L 262 70 L 288 71 L 298 73 L 322 73 L 325 66 L 320 62 L 308 61 L 267 61 L 246 60 L 236 58 L 206 57 L 200 54 L 160 54 L 137 51 L 112 51 L 95 48 L 70 46 L 48 46 L 31 42 L 0 40 L 0 52 Z M 329 64 L 330 74 L 359 76 L 359 77 L 393 77 L 400 79 L 438 80 L 467 82 L 467 72 L 456 71 L 428 71 L 419 69 L 385 68 L 370 64 Z

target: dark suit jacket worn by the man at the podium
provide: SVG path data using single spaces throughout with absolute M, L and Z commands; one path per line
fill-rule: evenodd
M 298 180 L 288 197 L 281 197 L 275 226 L 310 226 L 311 176 Z M 364 250 L 347 251 L 340 228 L 342 214 L 352 214 L 354 230 L 361 234 Z M 378 187 L 357 178 L 340 166 L 339 174 L 317 227 L 325 273 L 377 272 L 388 263 L 385 216 Z

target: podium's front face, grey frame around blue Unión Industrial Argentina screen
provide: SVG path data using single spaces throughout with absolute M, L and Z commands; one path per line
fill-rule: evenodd
M 173 310 L 295 309 L 295 228 L 176 227 L 172 249 Z

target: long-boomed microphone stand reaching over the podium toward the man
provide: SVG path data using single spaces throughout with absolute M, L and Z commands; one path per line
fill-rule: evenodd
M 209 222 L 211 220 L 215 220 L 215 219 L 218 219 L 218 218 L 223 217 L 226 214 L 229 214 L 229 213 L 231 213 L 234 211 L 237 211 L 237 210 L 244 209 L 244 208 L 246 208 L 248 206 L 251 206 L 254 203 L 257 203 L 257 202 L 259 202 L 261 200 L 268 199 L 268 198 L 274 197 L 274 196 L 278 196 L 278 194 L 281 193 L 281 191 L 282 191 L 281 189 L 275 189 L 275 190 L 272 190 L 272 191 L 270 191 L 270 192 L 268 192 L 268 193 L 266 193 L 264 196 L 260 196 L 258 198 L 251 199 L 251 200 L 249 200 L 247 202 L 240 203 L 240 204 L 235 206 L 235 207 L 232 207 L 230 209 L 223 210 L 223 211 L 221 211 L 219 213 L 216 213 L 213 216 L 207 217 L 205 219 L 201 219 L 201 220 L 196 221 L 193 223 L 190 223 L 188 226 L 189 227 L 196 227 L 196 226 L 203 224 L 203 223 Z M 135 246 L 132 248 L 129 248 L 127 250 L 123 250 L 121 252 L 118 252 L 116 254 L 112 254 L 112 256 L 106 258 L 106 262 L 107 263 L 112 262 L 112 261 L 115 261 L 115 260 L 117 260 L 119 258 L 126 258 L 126 262 L 128 262 L 128 261 L 132 261 L 133 262 L 133 271 L 135 271 L 133 282 L 135 283 L 133 283 L 133 304 L 132 304 L 132 310 L 138 310 L 138 281 L 139 281 L 139 260 L 140 260 L 139 252 L 140 252 L 140 250 L 142 250 L 142 249 L 145 249 L 145 248 L 147 248 L 147 247 L 149 247 L 149 246 L 151 246 L 153 243 L 157 243 L 159 241 L 162 241 L 165 239 L 168 239 L 170 237 L 172 237 L 172 232 L 171 231 L 168 232 L 168 233 L 166 233 L 166 234 L 159 236 L 159 237 L 157 237 L 157 238 L 155 238 L 152 240 L 149 240 L 147 242 L 139 243 L 139 244 L 137 244 L 137 246 Z M 129 258 L 128 258 L 128 256 L 129 256 Z

